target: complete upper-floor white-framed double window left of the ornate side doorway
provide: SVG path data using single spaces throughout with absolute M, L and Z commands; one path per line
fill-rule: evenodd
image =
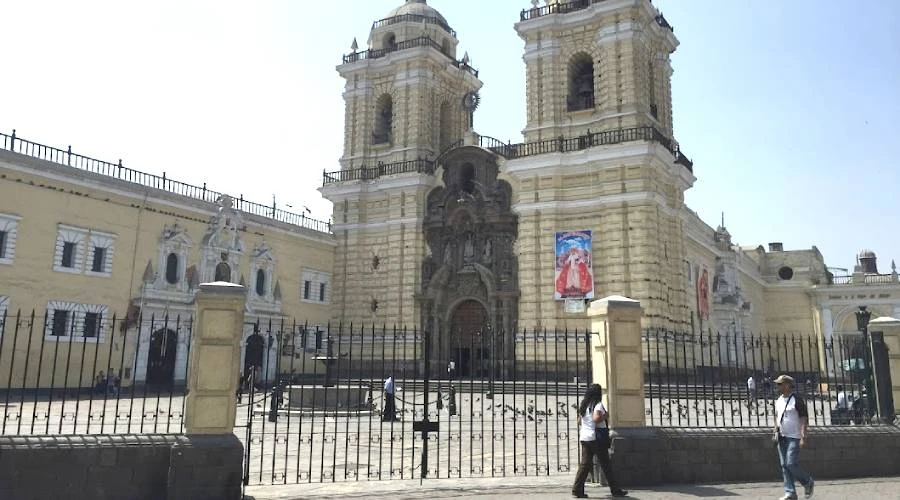
M 115 240 L 114 234 L 60 224 L 53 270 L 89 276 L 110 276 Z

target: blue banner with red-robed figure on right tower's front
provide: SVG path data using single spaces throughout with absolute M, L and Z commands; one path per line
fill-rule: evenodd
M 556 233 L 556 300 L 594 298 L 592 257 L 590 230 Z

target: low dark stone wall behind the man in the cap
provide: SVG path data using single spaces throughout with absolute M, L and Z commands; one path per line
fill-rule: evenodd
M 622 485 L 780 481 L 766 429 L 619 429 L 613 470 Z M 900 475 L 900 429 L 813 427 L 800 464 L 814 478 Z

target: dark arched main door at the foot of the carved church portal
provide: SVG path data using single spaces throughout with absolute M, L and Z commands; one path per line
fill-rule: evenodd
M 457 376 L 479 375 L 481 361 L 489 359 L 490 346 L 484 345 L 482 330 L 488 323 L 488 314 L 477 300 L 464 300 L 456 306 L 450 317 L 448 350 L 450 360 L 456 364 Z

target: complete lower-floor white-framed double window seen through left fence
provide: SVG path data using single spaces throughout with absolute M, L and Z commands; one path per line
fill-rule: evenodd
M 44 338 L 68 342 L 103 342 L 109 308 L 98 304 L 50 301 Z

